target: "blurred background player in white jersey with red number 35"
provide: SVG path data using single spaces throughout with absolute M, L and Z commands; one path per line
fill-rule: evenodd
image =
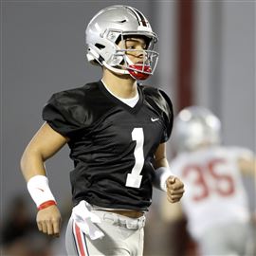
M 187 192 L 172 211 L 163 205 L 163 216 L 170 220 L 177 212 L 174 207 L 185 213 L 200 255 L 252 255 L 242 174 L 251 174 L 255 182 L 255 155 L 245 148 L 220 145 L 220 129 L 220 120 L 199 106 L 183 109 L 174 120 L 177 155 L 171 168 L 182 177 Z

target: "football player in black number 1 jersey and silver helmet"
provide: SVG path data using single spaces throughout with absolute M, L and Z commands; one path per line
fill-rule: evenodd
M 38 229 L 59 235 L 61 214 L 44 162 L 66 143 L 70 148 L 75 168 L 68 255 L 142 255 L 153 184 L 172 203 L 184 192 L 165 153 L 172 102 L 163 91 L 137 82 L 155 70 L 156 42 L 139 10 L 101 9 L 86 28 L 87 59 L 101 65 L 101 81 L 55 93 L 43 110 L 46 122 L 22 156 L 27 189 L 39 210 Z

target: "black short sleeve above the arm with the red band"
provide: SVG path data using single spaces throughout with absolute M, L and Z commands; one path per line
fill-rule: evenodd
M 43 119 L 64 137 L 76 137 L 82 129 L 78 105 L 72 97 L 62 92 L 54 94 L 43 109 Z

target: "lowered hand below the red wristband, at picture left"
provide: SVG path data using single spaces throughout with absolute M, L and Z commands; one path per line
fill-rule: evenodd
M 57 206 L 49 206 L 46 209 L 39 210 L 36 222 L 39 231 L 55 237 L 60 236 L 62 216 Z

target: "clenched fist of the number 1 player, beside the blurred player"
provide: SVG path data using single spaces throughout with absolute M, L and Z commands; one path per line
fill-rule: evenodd
M 171 203 L 176 203 L 180 200 L 184 193 L 183 182 L 174 176 L 170 176 L 166 181 L 167 199 Z

